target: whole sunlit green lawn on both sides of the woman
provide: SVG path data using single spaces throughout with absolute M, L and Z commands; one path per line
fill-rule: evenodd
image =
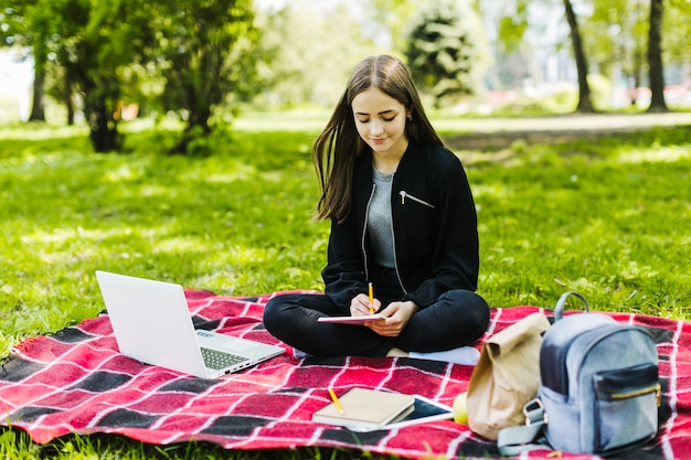
M 213 156 L 195 158 L 166 156 L 178 135 L 162 128 L 129 129 L 121 154 L 91 152 L 79 128 L 0 131 L 0 355 L 103 310 L 95 269 L 224 295 L 321 289 L 328 223 L 311 218 L 309 148 L 325 120 L 261 119 L 240 120 L 211 140 Z M 443 135 L 474 189 L 479 292 L 491 306 L 552 307 L 575 289 L 596 310 L 689 319 L 689 127 L 469 150 L 451 125 Z M 21 434 L 0 438 L 2 457 L 46 456 Z M 103 437 L 50 453 L 255 458 Z

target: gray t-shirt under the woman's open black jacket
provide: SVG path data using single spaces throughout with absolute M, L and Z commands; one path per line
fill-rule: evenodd
M 368 234 L 372 243 L 374 263 L 382 267 L 393 268 L 393 226 L 391 222 L 391 184 L 393 173 L 383 175 L 372 168 L 374 196 L 368 210 Z

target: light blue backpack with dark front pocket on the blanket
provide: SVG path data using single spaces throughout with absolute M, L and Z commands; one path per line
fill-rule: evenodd
M 540 347 L 540 389 L 523 411 L 525 427 L 504 428 L 503 454 L 554 449 L 615 454 L 640 447 L 658 431 L 658 352 L 644 328 L 605 314 L 564 317 L 557 301 L 554 324 Z

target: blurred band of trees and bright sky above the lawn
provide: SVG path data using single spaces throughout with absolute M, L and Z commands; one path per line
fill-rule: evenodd
M 208 130 L 248 108 L 331 107 L 353 63 L 379 53 L 453 115 L 691 107 L 687 0 L 0 7 L 3 124 L 84 121 L 105 136 L 135 117 Z

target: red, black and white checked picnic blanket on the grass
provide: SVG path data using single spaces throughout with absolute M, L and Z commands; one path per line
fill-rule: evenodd
M 196 327 L 275 343 L 288 353 L 217 379 L 200 379 L 149 366 L 118 353 L 107 314 L 18 344 L 0 371 L 0 424 L 45 443 L 70 434 L 119 434 L 147 443 L 188 440 L 226 449 L 346 448 L 402 458 L 500 458 L 493 442 L 453 420 L 392 430 L 353 432 L 310 421 L 337 393 L 359 386 L 421 394 L 451 405 L 467 391 L 472 368 L 393 357 L 293 357 L 262 324 L 266 301 L 188 290 Z M 486 336 L 535 311 L 493 308 Z M 549 311 L 544 311 L 548 315 Z M 691 323 L 638 314 L 612 314 L 652 333 L 663 387 L 658 437 L 626 459 L 676 459 L 691 451 Z M 524 453 L 548 459 L 548 450 Z M 592 456 L 564 453 L 564 458 Z

